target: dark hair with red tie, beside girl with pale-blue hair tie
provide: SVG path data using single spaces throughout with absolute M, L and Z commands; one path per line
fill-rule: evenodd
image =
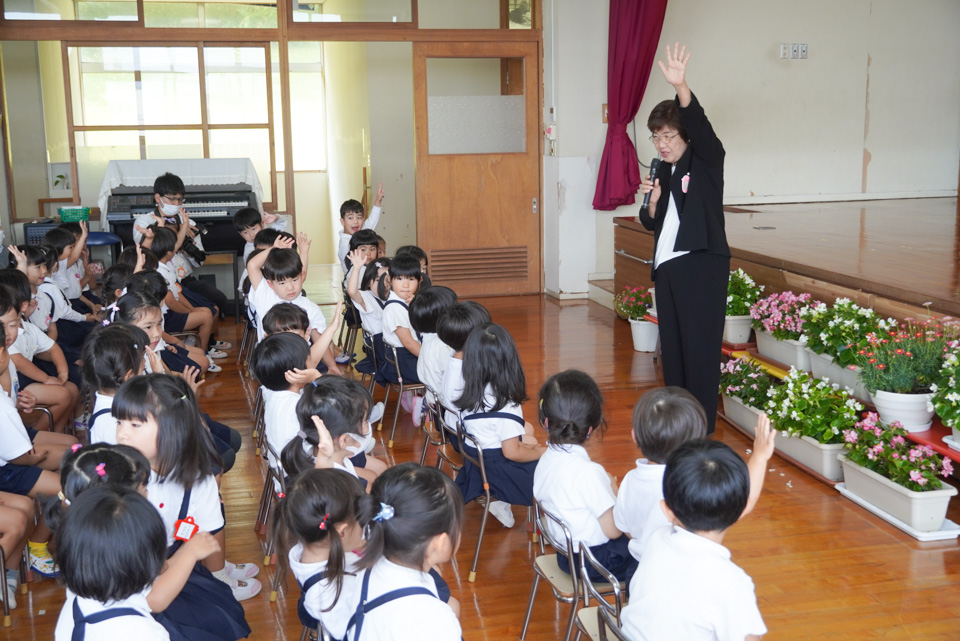
M 297 542 L 304 545 L 328 541 L 327 580 L 336 586 L 329 609 L 340 598 L 346 574 L 346 550 L 337 531 L 338 523 L 365 526 L 373 516 L 373 504 L 360 479 L 340 470 L 305 470 L 287 486 L 286 496 L 277 503 L 273 517 L 274 532 L 280 541 L 281 572 L 289 563 L 287 553 Z M 325 612 L 327 610 L 324 610 Z

